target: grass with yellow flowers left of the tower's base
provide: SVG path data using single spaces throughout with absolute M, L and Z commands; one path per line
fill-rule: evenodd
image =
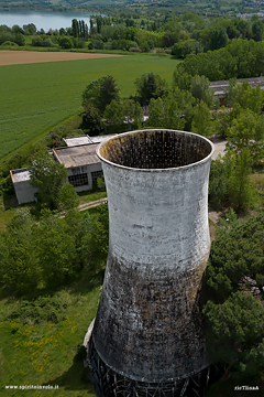
M 103 267 L 105 261 L 90 266 L 79 281 L 54 293 L 64 315 L 57 323 L 7 319 L 19 308 L 20 300 L 4 297 L 1 291 L 0 396 L 21 394 L 7 390 L 7 385 L 58 385 L 54 390 L 23 390 L 26 396 L 96 396 L 80 347 L 97 312 Z

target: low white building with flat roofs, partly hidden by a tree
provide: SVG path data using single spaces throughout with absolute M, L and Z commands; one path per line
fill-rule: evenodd
M 101 161 L 97 157 L 97 147 L 109 136 L 99 137 L 73 137 L 65 138 L 67 147 L 52 150 L 55 161 L 67 169 L 66 182 L 69 182 L 77 193 L 89 191 L 97 179 L 102 176 Z M 14 192 L 19 204 L 36 201 L 37 189 L 30 184 L 30 172 L 28 169 L 10 170 Z

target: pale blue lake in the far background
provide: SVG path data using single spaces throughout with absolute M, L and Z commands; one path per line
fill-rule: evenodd
M 89 12 L 53 12 L 53 11 L 0 11 L 0 25 L 6 24 L 12 28 L 14 24 L 23 28 L 24 24 L 34 23 L 37 30 L 70 28 L 72 20 L 84 20 L 90 28 L 90 15 L 96 13 Z M 102 15 L 106 17 L 106 15 Z

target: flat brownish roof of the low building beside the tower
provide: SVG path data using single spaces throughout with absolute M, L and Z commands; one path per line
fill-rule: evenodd
M 99 143 L 88 143 L 54 149 L 54 157 L 66 168 L 100 163 L 100 159 L 96 153 L 98 144 Z

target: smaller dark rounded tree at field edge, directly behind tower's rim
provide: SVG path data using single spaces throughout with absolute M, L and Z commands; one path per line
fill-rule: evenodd
M 144 73 L 135 79 L 134 84 L 136 87 L 135 97 L 141 106 L 147 106 L 152 98 L 161 98 L 167 92 L 165 79 L 153 72 Z

